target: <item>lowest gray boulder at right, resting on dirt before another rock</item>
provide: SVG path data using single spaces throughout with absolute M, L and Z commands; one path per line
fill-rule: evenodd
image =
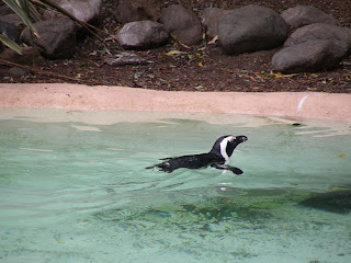
M 272 68 L 283 73 L 313 72 L 330 69 L 340 61 L 331 41 L 307 41 L 274 54 Z

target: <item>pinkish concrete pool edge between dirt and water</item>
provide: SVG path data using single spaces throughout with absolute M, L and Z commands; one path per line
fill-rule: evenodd
M 351 122 L 351 94 L 320 92 L 185 92 L 0 83 L 0 107 L 259 114 Z

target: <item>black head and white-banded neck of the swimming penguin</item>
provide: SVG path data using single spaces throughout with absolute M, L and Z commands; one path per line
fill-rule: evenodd
M 219 137 L 211 149 L 211 153 L 220 156 L 227 162 L 233 155 L 234 149 L 241 142 L 248 140 L 248 137 L 225 135 Z

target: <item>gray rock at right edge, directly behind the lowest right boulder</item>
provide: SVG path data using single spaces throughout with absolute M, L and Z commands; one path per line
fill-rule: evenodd
M 351 53 L 351 28 L 333 24 L 310 24 L 297 28 L 284 43 L 285 47 L 297 45 L 307 41 L 331 41 L 335 53 L 346 57 Z

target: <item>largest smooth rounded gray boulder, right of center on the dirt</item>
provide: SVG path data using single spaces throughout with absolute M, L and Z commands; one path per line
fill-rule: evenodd
M 228 13 L 218 24 L 218 39 L 227 54 L 274 48 L 287 34 L 288 26 L 276 12 L 254 4 Z

